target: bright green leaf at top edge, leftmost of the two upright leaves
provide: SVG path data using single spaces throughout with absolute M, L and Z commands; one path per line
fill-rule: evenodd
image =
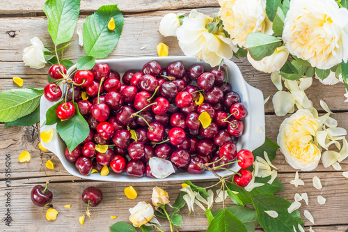
M 48 19 L 48 31 L 54 45 L 68 42 L 77 24 L 79 0 L 47 0 L 43 8 Z

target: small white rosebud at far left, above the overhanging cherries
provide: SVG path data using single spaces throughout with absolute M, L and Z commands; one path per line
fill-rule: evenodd
M 32 46 L 26 47 L 23 50 L 24 65 L 30 66 L 30 68 L 44 68 L 46 60 L 43 53 L 43 43 L 38 37 L 32 38 L 30 42 Z

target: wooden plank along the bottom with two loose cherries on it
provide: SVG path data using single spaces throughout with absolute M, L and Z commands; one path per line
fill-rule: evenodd
M 317 190 L 312 185 L 313 176 L 317 175 L 322 180 L 322 190 Z M 346 225 L 348 224 L 348 211 L 342 210 L 342 203 L 348 201 L 347 196 L 347 178 L 340 173 L 301 173 L 300 178 L 303 179 L 305 185 L 303 187 L 294 187 L 289 184 L 291 178 L 286 173 L 280 174 L 280 181 L 283 183 L 285 190 L 278 192 L 278 196 L 283 196 L 289 201 L 294 201 L 296 192 L 307 192 L 309 196 L 309 206 L 303 202 L 300 208 L 301 215 L 303 210 L 308 210 L 315 218 L 316 226 L 324 225 Z M 49 189 L 54 194 L 52 205 L 58 210 L 58 219 L 55 222 L 47 222 L 45 219 L 45 211 L 47 208 L 38 208 L 31 203 L 31 188 L 40 183 L 45 183 L 51 179 L 52 183 Z M 209 186 L 214 182 L 209 181 L 197 183 L 200 186 Z M 85 187 L 94 185 L 99 187 L 104 195 L 103 202 L 97 208 L 91 208 L 93 219 L 86 219 L 84 226 L 78 223 L 79 216 L 83 215 L 86 210 L 86 204 L 81 201 L 81 192 Z M 157 185 L 168 191 L 171 201 L 174 201 L 181 188 L 180 182 L 161 182 L 161 183 L 134 183 L 134 188 L 139 196 L 135 200 L 125 197 L 123 190 L 129 184 L 127 183 L 106 183 L 106 182 L 61 182 L 60 177 L 52 176 L 46 178 L 33 178 L 24 180 L 13 180 L 11 191 L 11 217 L 13 224 L 6 231 L 26 230 L 26 225 L 35 222 L 35 231 L 54 231 L 58 226 L 64 226 L 65 229 L 74 231 L 106 231 L 107 226 L 112 224 L 111 215 L 118 216 L 114 222 L 128 222 L 128 209 L 135 206 L 138 201 L 146 201 L 150 203 L 152 187 Z M 3 190 L 6 191 L 6 190 Z M 2 192 L 3 192 L 2 191 Z M 326 198 L 326 204 L 320 206 L 317 203 L 317 196 L 322 195 Z M 4 194 L 0 194 L 0 201 L 4 202 Z M 71 208 L 63 208 L 65 204 L 72 204 Z M 227 199 L 226 206 L 232 206 L 230 199 Z M 214 208 L 221 208 L 221 203 L 216 204 Z M 0 205 L 0 210 L 6 210 L 4 204 Z M 326 212 L 326 213 L 323 213 Z M 198 206 L 195 212 L 189 215 L 187 207 L 182 209 L 183 216 L 182 227 L 180 231 L 205 231 L 207 229 L 207 219 L 203 210 Z M 159 219 L 164 231 L 168 231 L 167 223 L 164 219 Z M 311 223 L 303 217 L 306 226 Z M 33 231 L 32 227 L 30 228 Z M 324 228 L 323 228 L 324 229 Z M 21 230 L 21 231 L 22 231 Z

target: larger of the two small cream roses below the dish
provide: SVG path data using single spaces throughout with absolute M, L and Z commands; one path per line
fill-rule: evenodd
M 152 206 L 144 201 L 141 201 L 133 208 L 130 208 L 129 212 L 131 213 L 129 221 L 131 221 L 134 226 L 142 226 L 143 224 L 150 222 L 152 217 L 154 217 Z

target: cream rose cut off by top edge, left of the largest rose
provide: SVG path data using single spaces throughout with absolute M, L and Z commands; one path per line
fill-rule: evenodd
M 246 47 L 246 36 L 253 32 L 273 34 L 266 15 L 266 0 L 219 0 L 219 4 L 224 29 L 235 45 Z

